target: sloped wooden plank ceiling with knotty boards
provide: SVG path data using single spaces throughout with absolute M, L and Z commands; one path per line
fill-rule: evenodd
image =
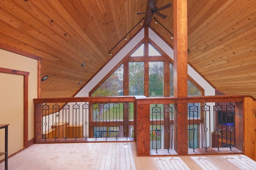
M 108 54 L 147 9 L 148 0 L 0 0 L 0 43 L 42 57 L 42 76 L 49 75 L 42 98 L 72 97 L 127 43 Z M 188 62 L 224 94 L 256 97 L 255 9 L 255 0 L 188 0 Z M 161 13 L 167 18 L 154 17 L 172 33 L 172 7 Z M 162 25 L 149 25 L 172 47 Z

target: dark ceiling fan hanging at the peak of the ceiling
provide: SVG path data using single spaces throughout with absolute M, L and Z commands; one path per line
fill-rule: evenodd
M 148 27 L 150 25 L 150 22 L 153 18 L 153 15 L 156 14 L 158 16 L 160 16 L 161 18 L 165 19 L 167 16 L 160 13 L 159 11 L 164 10 L 166 8 L 170 8 L 172 6 L 172 4 L 166 4 L 160 8 L 157 8 L 156 6 L 156 1 L 157 0 L 148 0 L 148 10 L 146 12 L 138 12 L 137 14 L 146 14 L 146 19 L 145 19 L 145 23 L 144 26 Z

